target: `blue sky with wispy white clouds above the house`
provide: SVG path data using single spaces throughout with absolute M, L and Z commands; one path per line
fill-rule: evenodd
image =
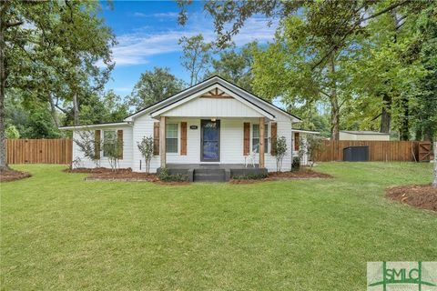
M 212 19 L 203 12 L 202 2 L 188 7 L 185 26 L 178 25 L 178 5 L 173 1 L 114 1 L 112 10 L 103 5 L 103 17 L 118 41 L 113 48 L 116 67 L 107 89 L 114 89 L 118 95 L 130 94 L 139 75 L 154 66 L 167 66 L 172 74 L 188 82 L 188 74 L 180 65 L 179 37 L 201 33 L 207 41 L 215 39 Z M 275 29 L 267 19 L 252 17 L 234 42 L 238 46 L 253 40 L 267 43 Z

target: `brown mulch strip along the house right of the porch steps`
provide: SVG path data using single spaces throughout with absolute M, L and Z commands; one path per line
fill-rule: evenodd
M 278 180 L 299 180 L 299 179 L 311 179 L 311 178 L 332 178 L 328 174 L 314 172 L 311 169 L 303 168 L 296 172 L 269 172 L 269 175 L 263 179 L 232 179 L 232 184 L 253 184 L 264 181 L 278 181 Z

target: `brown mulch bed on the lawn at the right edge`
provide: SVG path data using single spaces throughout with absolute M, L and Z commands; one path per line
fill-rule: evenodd
M 396 186 L 387 189 L 387 196 L 401 203 L 437 212 L 437 189 L 431 185 Z

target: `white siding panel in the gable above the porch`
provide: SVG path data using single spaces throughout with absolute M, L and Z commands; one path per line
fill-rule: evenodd
M 178 105 L 165 116 L 187 117 L 261 117 L 257 111 L 236 99 L 198 97 L 182 105 Z

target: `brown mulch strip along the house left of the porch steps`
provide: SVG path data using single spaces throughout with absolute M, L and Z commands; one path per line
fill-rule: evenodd
M 90 174 L 87 180 L 124 180 L 124 181 L 150 181 L 155 182 L 158 177 L 154 174 L 132 172 L 131 168 L 112 170 L 105 167 L 66 169 L 67 173 Z

